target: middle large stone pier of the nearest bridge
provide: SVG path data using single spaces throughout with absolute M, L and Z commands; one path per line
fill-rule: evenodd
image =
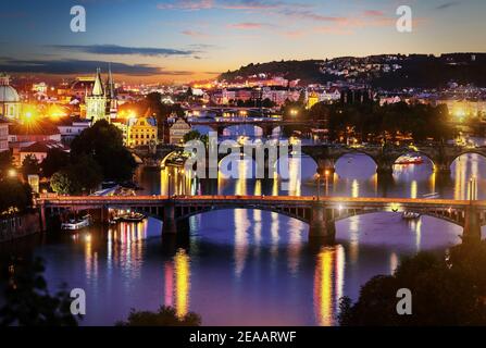
M 316 202 L 312 207 L 309 241 L 322 245 L 334 245 L 336 243 L 336 225 L 334 221 L 331 221 L 324 203 Z

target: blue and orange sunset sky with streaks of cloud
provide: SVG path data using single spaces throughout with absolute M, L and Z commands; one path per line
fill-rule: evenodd
M 397 8 L 412 10 L 399 33 Z M 70 28 L 86 10 L 86 32 Z M 486 52 L 484 0 L 2 0 L 0 72 L 185 83 L 249 63 Z

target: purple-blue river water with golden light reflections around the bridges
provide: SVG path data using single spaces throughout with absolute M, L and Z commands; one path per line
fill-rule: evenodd
M 328 181 L 329 195 L 464 199 L 468 181 L 478 178 L 484 197 L 486 162 L 463 156 L 449 178 L 432 165 L 397 166 L 387 181 L 374 174 L 374 163 L 352 156 L 337 163 Z M 291 164 L 290 164 L 291 167 Z M 142 173 L 149 194 L 169 189 L 167 171 Z M 248 163 L 238 166 L 247 173 Z M 288 182 L 301 195 L 316 195 L 315 163 L 302 161 L 302 176 Z M 145 182 L 146 181 L 146 182 Z M 195 191 L 183 176 L 171 176 L 171 190 Z M 153 184 L 157 183 L 157 184 Z M 271 195 L 281 182 L 221 177 L 220 194 Z M 201 190 L 203 183 L 197 183 Z M 324 184 L 323 184 L 324 185 Z M 291 186 L 291 185 L 290 185 Z M 321 192 L 324 191 L 322 187 Z M 174 191 L 173 191 L 174 192 Z M 356 299 L 362 284 L 390 274 L 402 256 L 444 250 L 458 244 L 461 228 L 434 217 L 403 221 L 391 212 L 339 221 L 337 245 L 315 250 L 307 243 L 307 224 L 258 210 L 213 211 L 190 217 L 190 245 L 174 256 L 161 251 L 161 222 L 120 224 L 103 232 L 90 228 L 75 237 L 48 236 L 36 247 L 47 262 L 51 286 L 61 282 L 86 289 L 88 315 L 84 324 L 111 325 L 130 308 L 157 310 L 173 306 L 178 315 L 194 311 L 207 325 L 333 325 L 341 296 Z

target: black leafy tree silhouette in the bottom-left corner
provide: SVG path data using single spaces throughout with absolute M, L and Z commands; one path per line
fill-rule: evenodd
M 55 295 L 49 293 L 42 276 L 41 259 L 14 259 L 1 268 L 8 279 L 4 306 L 0 309 L 0 325 L 76 326 L 71 313 L 71 298 L 66 286 Z

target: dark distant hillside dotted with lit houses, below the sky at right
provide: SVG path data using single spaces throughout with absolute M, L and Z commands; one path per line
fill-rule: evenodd
M 300 79 L 301 85 L 347 80 L 374 87 L 444 87 L 449 82 L 486 87 L 486 53 L 383 54 L 332 60 L 279 61 L 241 66 L 220 75 L 220 80 L 237 82 L 260 74 Z

